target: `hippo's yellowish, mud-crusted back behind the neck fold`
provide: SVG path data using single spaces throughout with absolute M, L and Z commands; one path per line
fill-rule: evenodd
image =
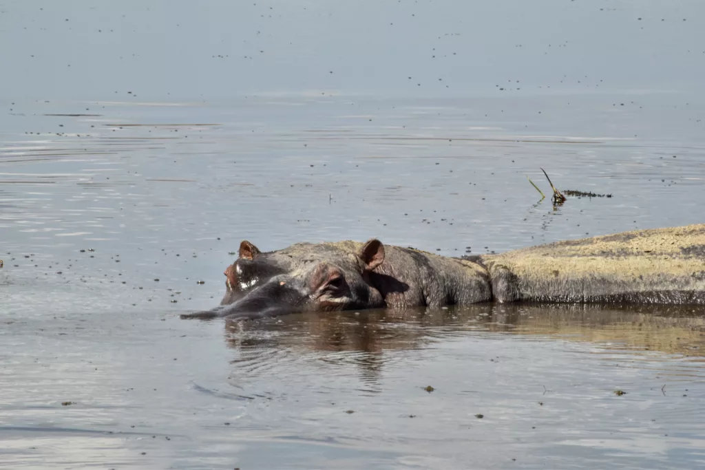
M 705 224 L 480 256 L 499 302 L 705 304 Z

